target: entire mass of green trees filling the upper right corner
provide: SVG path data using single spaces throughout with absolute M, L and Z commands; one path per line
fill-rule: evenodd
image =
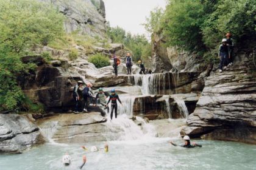
M 169 0 L 165 12 L 153 10 L 145 29 L 162 32 L 166 46 L 189 52 L 204 52 L 208 63 L 216 61 L 221 39 L 233 34 L 236 47 L 252 49 L 256 42 L 254 0 Z

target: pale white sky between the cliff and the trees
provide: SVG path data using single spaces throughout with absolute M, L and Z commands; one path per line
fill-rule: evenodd
M 146 22 L 151 10 L 155 7 L 165 7 L 166 0 L 104 0 L 106 19 L 110 26 L 122 27 L 132 34 L 145 34 L 148 32 L 141 25 Z

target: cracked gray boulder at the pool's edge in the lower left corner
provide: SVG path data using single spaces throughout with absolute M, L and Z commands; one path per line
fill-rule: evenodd
M 26 117 L 0 114 L 0 153 L 20 153 L 43 143 L 39 129 Z

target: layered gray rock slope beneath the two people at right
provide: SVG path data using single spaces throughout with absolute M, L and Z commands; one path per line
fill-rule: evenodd
M 235 66 L 206 79 L 182 135 L 256 143 L 256 74 L 246 58 L 236 56 Z

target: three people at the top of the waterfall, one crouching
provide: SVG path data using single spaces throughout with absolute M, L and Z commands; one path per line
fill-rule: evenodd
M 116 55 L 113 55 L 113 61 L 114 61 L 113 67 L 115 70 L 115 75 L 117 76 L 118 75 L 118 65 L 121 63 L 121 61 L 119 60 L 119 58 Z M 130 56 L 130 53 L 127 53 L 125 63 L 126 63 L 126 67 L 127 67 L 127 75 L 131 75 L 133 62 L 132 62 L 132 57 Z M 140 74 L 147 74 L 147 73 L 151 74 L 152 73 L 151 70 L 148 70 L 148 72 L 146 72 L 146 68 L 141 60 L 138 61 L 138 66 L 140 67 Z

